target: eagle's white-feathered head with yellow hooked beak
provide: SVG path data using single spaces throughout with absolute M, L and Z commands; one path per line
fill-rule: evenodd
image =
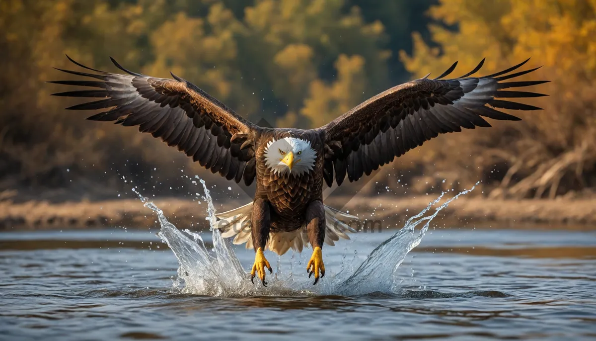
M 295 176 L 315 167 L 316 151 L 311 142 L 294 137 L 272 139 L 265 148 L 265 165 L 278 175 Z

